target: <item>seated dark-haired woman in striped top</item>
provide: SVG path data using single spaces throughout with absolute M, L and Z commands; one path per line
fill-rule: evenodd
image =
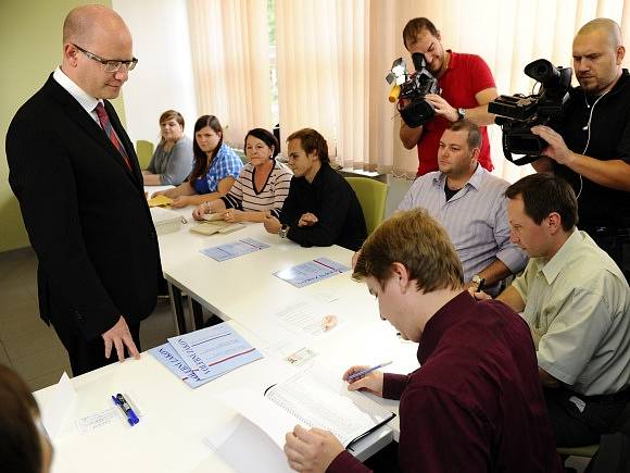
M 267 212 L 280 214 L 292 173 L 275 160 L 278 141 L 266 129 L 254 128 L 245 135 L 244 149 L 249 162 L 229 194 L 194 209 L 196 220 L 203 220 L 206 213 L 220 213 L 227 222 L 263 222 Z

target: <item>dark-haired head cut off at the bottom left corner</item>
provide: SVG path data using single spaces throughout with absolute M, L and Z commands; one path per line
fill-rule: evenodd
M 2 473 L 47 473 L 52 446 L 28 386 L 0 364 L 0 466 Z

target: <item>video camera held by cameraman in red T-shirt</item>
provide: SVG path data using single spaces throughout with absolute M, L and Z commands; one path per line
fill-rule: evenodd
M 394 84 L 390 101 L 399 99 L 396 108 L 403 121 L 408 127 L 417 128 L 434 115 L 433 105 L 425 100 L 425 96 L 440 94 L 441 90 L 438 87 L 438 79 L 427 69 L 425 57 L 419 52 L 414 52 L 412 60 L 416 72 L 410 74 L 405 60 L 399 58 L 393 62 L 386 80 Z

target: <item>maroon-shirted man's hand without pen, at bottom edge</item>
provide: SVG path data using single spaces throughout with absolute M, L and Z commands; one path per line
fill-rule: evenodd
M 285 436 L 285 455 L 289 466 L 299 472 L 325 472 L 332 460 L 341 453 L 343 445 L 328 431 L 295 425 Z

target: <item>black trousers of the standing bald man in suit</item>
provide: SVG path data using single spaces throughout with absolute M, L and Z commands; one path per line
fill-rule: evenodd
M 116 347 L 112 347 L 110 358 L 106 359 L 103 338 L 97 337 L 93 340 L 87 340 L 78 327 L 67 319 L 53 321 L 52 325 L 61 343 L 67 350 L 73 376 L 78 376 L 88 371 L 97 370 L 118 361 Z M 131 333 L 136 348 L 138 348 L 138 351 L 142 351 L 140 348 L 140 324 L 129 325 L 129 332 Z M 125 349 L 125 356 L 128 357 L 128 354 Z

